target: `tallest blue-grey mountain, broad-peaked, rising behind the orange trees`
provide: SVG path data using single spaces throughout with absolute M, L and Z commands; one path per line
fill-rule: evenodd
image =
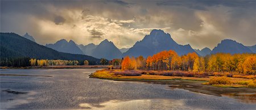
M 172 38 L 169 33 L 162 30 L 153 29 L 150 35 L 146 35 L 144 39 L 135 43 L 135 45 L 123 53 L 122 56 L 152 56 L 155 53 L 163 50 L 175 50 L 180 56 L 187 53 L 195 52 L 188 45 L 179 45 Z

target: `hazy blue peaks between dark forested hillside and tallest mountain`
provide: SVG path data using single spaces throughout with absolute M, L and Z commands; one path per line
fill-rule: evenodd
M 59 40 L 55 44 L 46 44 L 48 48 L 57 50 L 58 52 L 72 53 L 72 54 L 85 54 L 96 58 L 106 58 L 112 60 L 114 58 L 121 58 L 122 53 L 120 50 L 108 40 L 102 41 L 99 45 L 77 45 L 74 41 Z

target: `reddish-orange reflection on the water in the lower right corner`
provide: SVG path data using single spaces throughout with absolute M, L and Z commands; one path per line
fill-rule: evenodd
M 229 98 L 235 98 L 242 103 L 255 104 L 256 103 L 256 93 L 230 93 L 222 94 L 222 96 L 228 96 Z

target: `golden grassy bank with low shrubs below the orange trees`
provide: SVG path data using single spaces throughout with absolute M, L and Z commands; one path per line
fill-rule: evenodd
M 255 75 L 212 75 L 206 76 L 201 73 L 189 73 L 178 71 L 121 71 L 121 70 L 98 70 L 91 74 L 92 78 L 112 79 L 118 81 L 167 81 L 174 79 L 191 80 L 191 81 L 205 81 L 204 85 L 214 87 L 256 87 Z M 187 74 L 188 73 L 188 74 Z M 221 77 L 220 77 L 221 76 Z

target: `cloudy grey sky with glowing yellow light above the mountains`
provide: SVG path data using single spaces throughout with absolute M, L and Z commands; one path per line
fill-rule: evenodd
M 130 48 L 152 29 L 177 43 L 213 49 L 223 39 L 256 44 L 255 1 L 1 1 L 1 32 L 28 32 L 37 43 L 112 41 Z

